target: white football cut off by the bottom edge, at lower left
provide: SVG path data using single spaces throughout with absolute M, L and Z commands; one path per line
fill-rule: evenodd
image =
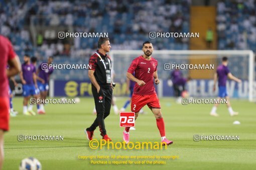
M 20 170 L 41 170 L 42 166 L 38 159 L 28 157 L 21 161 Z

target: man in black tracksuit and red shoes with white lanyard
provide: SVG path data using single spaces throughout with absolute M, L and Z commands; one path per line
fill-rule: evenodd
M 101 37 L 98 40 L 98 50 L 90 57 L 91 69 L 88 76 L 91 80 L 92 94 L 94 97 L 97 117 L 90 127 L 84 132 L 89 140 L 92 139 L 93 131 L 99 126 L 102 139 L 111 139 L 106 134 L 104 119 L 109 115 L 112 100 L 111 60 L 106 52 L 110 51 L 109 38 Z

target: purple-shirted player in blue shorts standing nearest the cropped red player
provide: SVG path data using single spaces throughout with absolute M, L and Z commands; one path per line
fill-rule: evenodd
M 36 76 L 36 67 L 30 62 L 30 56 L 24 56 L 24 63 L 22 64 L 22 71 L 20 73 L 22 88 L 23 88 L 23 114 L 25 115 L 36 115 L 33 110 L 28 110 L 28 101 L 31 96 L 35 99 L 38 98 L 38 88 L 37 86 L 37 76 Z

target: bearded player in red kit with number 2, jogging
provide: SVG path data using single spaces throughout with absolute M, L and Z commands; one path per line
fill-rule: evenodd
M 152 57 L 153 49 L 153 44 L 150 41 L 145 41 L 142 48 L 144 54 L 135 58 L 127 70 L 127 78 L 137 82 L 134 86 L 131 109 L 135 112 L 136 119 L 141 108 L 147 104 L 156 117 L 163 145 L 169 145 L 173 141 L 165 137 L 165 123 L 154 86 L 154 82 L 159 84 L 160 81 L 157 74 L 158 61 Z M 135 76 L 133 75 L 134 71 Z M 123 130 L 123 140 L 126 143 L 129 142 L 129 130 L 130 127 L 125 127 Z

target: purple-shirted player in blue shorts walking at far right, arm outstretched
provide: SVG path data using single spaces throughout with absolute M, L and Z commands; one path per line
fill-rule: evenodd
M 218 88 L 219 88 L 218 101 L 220 101 L 221 98 L 226 98 L 227 101 L 228 101 L 227 102 L 227 108 L 228 108 L 229 114 L 231 116 L 233 116 L 233 115 L 237 115 L 238 112 L 233 111 L 233 109 L 231 107 L 231 104 L 230 104 L 230 101 L 229 101 L 229 97 L 228 97 L 228 93 L 227 93 L 227 89 L 226 89 L 226 81 L 227 81 L 227 78 L 230 78 L 230 79 L 235 80 L 237 82 L 241 82 L 241 80 L 236 78 L 235 76 L 233 76 L 231 74 L 231 72 L 229 71 L 229 69 L 227 67 L 227 64 L 228 64 L 227 57 L 226 56 L 222 57 L 222 64 L 220 64 L 217 67 L 217 71 L 214 74 L 213 91 L 215 91 L 215 89 L 216 89 L 216 82 L 218 80 Z M 219 105 L 219 103 L 215 103 L 214 104 L 214 106 L 211 109 L 210 115 L 212 115 L 212 116 L 219 116 L 216 113 L 218 105 Z

